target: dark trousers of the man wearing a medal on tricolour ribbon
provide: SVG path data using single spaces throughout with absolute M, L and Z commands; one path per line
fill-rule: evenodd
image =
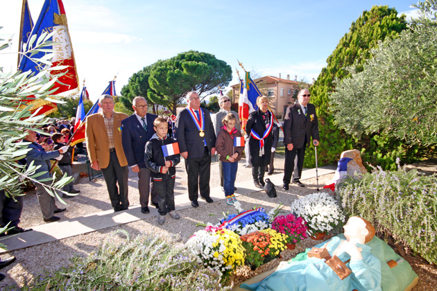
M 188 197 L 190 201 L 197 201 L 198 192 L 203 198 L 209 197 L 209 177 L 211 174 L 211 155 L 205 146 L 203 157 L 185 159 L 185 170 L 188 175 Z

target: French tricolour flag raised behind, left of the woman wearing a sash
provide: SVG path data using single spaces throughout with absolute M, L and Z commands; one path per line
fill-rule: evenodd
M 250 78 L 250 72 L 246 72 L 244 82 L 240 80 L 240 100 L 238 107 L 238 114 L 243 128 L 246 127 L 249 114 L 258 108 L 257 98 L 259 96 L 262 96 L 261 92 L 259 92 L 257 85 L 255 85 L 255 82 Z

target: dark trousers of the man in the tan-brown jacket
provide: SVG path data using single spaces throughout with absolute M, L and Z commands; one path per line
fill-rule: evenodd
M 110 152 L 110 163 L 107 168 L 102 168 L 102 173 L 108 188 L 112 208 L 117 211 L 128 209 L 129 168 L 128 166 L 120 166 L 116 152 Z M 118 188 L 117 182 L 119 182 Z

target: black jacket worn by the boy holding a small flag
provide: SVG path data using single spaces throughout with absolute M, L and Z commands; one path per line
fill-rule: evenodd
M 152 171 L 151 177 L 153 181 L 163 181 L 175 178 L 175 166 L 180 162 L 180 154 L 164 158 L 164 153 L 161 148 L 162 145 L 168 145 L 175 142 L 176 141 L 169 136 L 164 136 L 164 139 L 161 139 L 157 134 L 153 134 L 152 138 L 146 143 L 144 162 L 146 163 L 146 167 Z M 171 161 L 171 167 L 167 173 L 163 174 L 162 168 L 165 166 L 165 161 Z

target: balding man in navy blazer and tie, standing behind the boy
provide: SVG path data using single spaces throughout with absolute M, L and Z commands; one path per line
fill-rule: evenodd
M 153 121 L 157 115 L 147 113 L 148 105 L 144 97 L 137 96 L 132 100 L 132 108 L 135 113 L 121 121 L 121 142 L 128 165 L 135 173 L 138 173 L 139 204 L 141 212 L 149 213 L 148 193 L 150 193 L 151 170 L 144 163 L 144 150 L 146 142 L 151 139 Z M 157 200 L 152 196 L 152 204 Z

